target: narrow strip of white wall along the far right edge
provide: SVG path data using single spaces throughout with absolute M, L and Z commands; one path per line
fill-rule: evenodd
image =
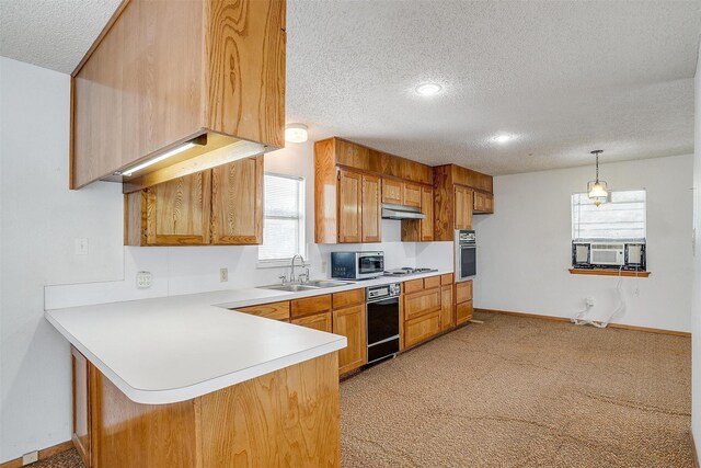
M 701 55 L 694 79 L 693 289 L 691 310 L 691 430 L 701 448 Z

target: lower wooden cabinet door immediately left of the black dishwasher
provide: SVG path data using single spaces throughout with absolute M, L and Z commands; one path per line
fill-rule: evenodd
M 365 305 L 334 310 L 333 332 L 348 340 L 348 345 L 338 351 L 338 374 L 345 374 L 366 363 Z

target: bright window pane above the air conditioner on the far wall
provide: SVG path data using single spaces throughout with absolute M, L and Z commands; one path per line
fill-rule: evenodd
M 572 194 L 572 240 L 645 240 L 644 190 L 611 192 L 596 206 L 586 193 Z

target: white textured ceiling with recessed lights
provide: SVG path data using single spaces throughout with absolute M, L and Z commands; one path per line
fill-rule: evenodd
M 70 72 L 118 4 L 0 0 L 0 55 Z M 287 122 L 491 174 L 690 153 L 700 31 L 698 0 L 288 0 Z

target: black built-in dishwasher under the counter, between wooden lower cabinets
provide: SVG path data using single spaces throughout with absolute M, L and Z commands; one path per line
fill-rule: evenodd
M 399 283 L 366 289 L 368 364 L 399 352 Z

